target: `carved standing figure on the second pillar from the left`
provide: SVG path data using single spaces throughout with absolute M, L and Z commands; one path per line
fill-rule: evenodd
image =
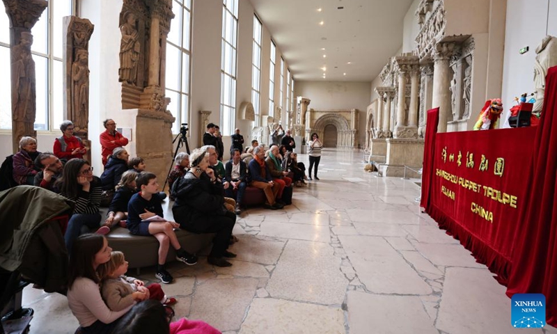
M 89 110 L 89 68 L 88 52 L 78 49 L 72 64 L 72 120 L 79 131 L 88 125 Z

